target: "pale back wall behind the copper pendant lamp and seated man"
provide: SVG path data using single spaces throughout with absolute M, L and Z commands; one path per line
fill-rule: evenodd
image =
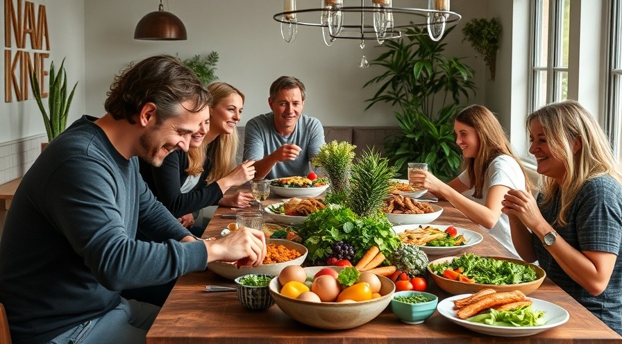
M 348 0 L 352 3 L 353 0 Z M 346 5 L 348 4 L 346 1 Z M 478 1 L 485 6 L 487 1 Z M 374 105 L 364 111 L 365 99 L 376 88 L 362 89 L 381 69 L 360 69 L 362 54 L 371 60 L 380 54 L 378 44 L 367 41 L 359 48 L 357 40 L 337 40 L 328 47 L 319 28 L 299 27 L 293 43 L 280 37 L 279 24 L 272 19 L 283 11 L 280 0 L 168 0 L 165 10 L 178 16 L 186 26 L 186 41 L 133 40 L 135 25 L 146 13 L 157 10 L 158 1 L 85 1 L 86 111 L 100 116 L 112 78 L 127 62 L 155 53 L 170 53 L 188 58 L 197 53 L 217 51 L 220 61 L 217 76 L 246 94 L 241 125 L 249 118 L 269 112 L 269 86 L 282 75 L 300 78 L 307 87 L 305 113 L 317 117 L 325 126 L 396 126 L 393 110 Z M 356 3 L 356 1 L 355 1 Z M 168 5 L 168 8 L 167 8 Z M 319 0 L 299 0 L 298 8 L 317 7 Z M 395 0 L 394 6 L 427 6 L 427 1 Z M 474 58 L 468 43 L 462 43 L 462 26 L 475 15 L 479 6 L 473 1 L 454 0 L 452 10 L 463 15 L 462 22 L 448 37 L 448 56 L 469 56 L 476 69 L 478 83 L 485 76 L 483 62 Z M 484 87 L 479 87 L 481 102 Z

